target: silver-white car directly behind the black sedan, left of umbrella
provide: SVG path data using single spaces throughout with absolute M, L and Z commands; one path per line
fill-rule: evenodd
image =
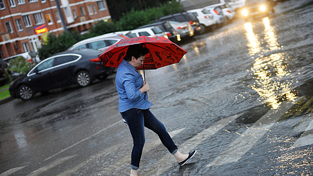
M 82 40 L 78 43 L 75 43 L 68 50 L 75 50 L 80 48 L 90 48 L 95 50 L 104 51 L 109 48 L 111 45 L 119 42 L 122 39 L 129 38 L 125 35 L 119 34 L 104 34 L 89 39 Z

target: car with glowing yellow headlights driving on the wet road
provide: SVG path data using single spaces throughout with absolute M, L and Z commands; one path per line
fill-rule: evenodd
M 242 10 L 245 21 L 257 16 L 269 16 L 274 13 L 274 3 L 271 0 L 247 0 Z

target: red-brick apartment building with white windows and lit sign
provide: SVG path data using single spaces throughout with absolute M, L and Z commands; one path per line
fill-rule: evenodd
M 55 0 L 56 1 L 56 0 Z M 0 0 L 0 58 L 36 51 L 48 33 L 86 32 L 99 20 L 110 20 L 105 0 Z

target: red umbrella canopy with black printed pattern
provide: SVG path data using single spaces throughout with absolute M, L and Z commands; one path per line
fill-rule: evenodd
M 142 44 L 149 49 L 145 55 L 144 64 L 137 69 L 157 69 L 166 65 L 178 63 L 187 51 L 165 37 L 140 36 L 122 39 L 99 55 L 103 65 L 118 67 L 126 55 L 130 45 Z

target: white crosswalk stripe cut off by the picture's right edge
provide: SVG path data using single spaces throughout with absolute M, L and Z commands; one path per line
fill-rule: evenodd
M 312 115 L 311 115 L 312 116 Z M 292 145 L 293 148 L 313 144 L 313 120 L 306 127 L 301 136 Z

